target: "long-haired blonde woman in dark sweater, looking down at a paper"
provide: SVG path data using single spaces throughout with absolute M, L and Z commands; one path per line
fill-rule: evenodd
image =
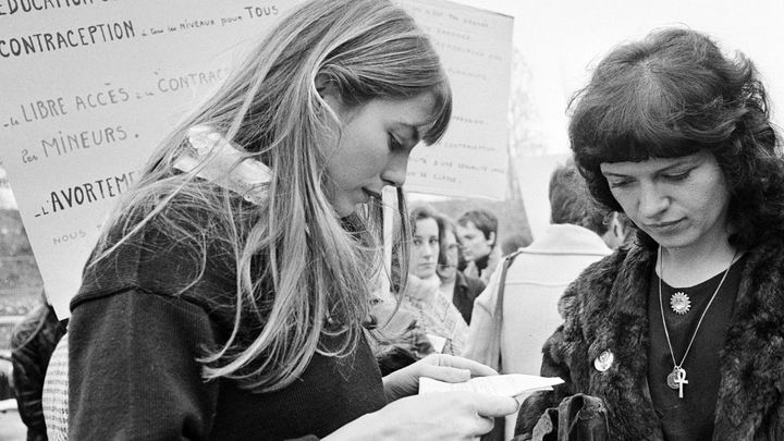
M 71 304 L 70 437 L 474 439 L 514 412 L 407 396 L 422 376 L 492 371 L 436 356 L 382 379 L 363 326 L 381 188 L 403 185 L 450 113 L 438 57 L 400 8 L 293 7 L 107 223 Z

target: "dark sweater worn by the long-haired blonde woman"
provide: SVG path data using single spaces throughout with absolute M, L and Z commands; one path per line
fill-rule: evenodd
M 152 230 L 139 237 L 88 267 L 71 303 L 71 439 L 315 439 L 385 404 L 364 340 L 350 357 L 314 355 L 277 392 L 205 382 L 197 358 L 231 331 L 234 271 L 211 249 L 198 282 L 175 295 L 198 271 L 192 253 Z M 246 324 L 243 339 L 262 326 Z

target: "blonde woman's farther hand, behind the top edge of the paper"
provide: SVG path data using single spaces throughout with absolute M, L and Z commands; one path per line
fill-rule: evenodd
M 419 378 L 449 383 L 460 383 L 471 377 L 498 375 L 495 369 L 468 358 L 446 354 L 431 354 L 427 357 L 395 370 L 383 378 L 387 400 L 393 402 L 408 395 L 415 395 L 419 389 Z

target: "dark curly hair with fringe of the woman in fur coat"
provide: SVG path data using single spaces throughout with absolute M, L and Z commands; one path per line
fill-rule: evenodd
M 691 29 L 653 32 L 616 47 L 569 108 L 575 162 L 591 195 L 622 207 L 602 162 L 637 162 L 710 151 L 731 193 L 731 241 L 751 247 L 784 230 L 784 162 L 765 90 L 749 59 L 722 54 Z M 652 240 L 637 230 L 642 244 Z

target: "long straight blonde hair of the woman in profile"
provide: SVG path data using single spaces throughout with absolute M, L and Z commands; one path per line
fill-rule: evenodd
M 123 238 L 105 234 L 99 244 L 94 264 L 155 220 L 172 241 L 193 248 L 200 271 L 216 258 L 216 244 L 225 250 L 219 258 L 228 256 L 236 268 L 234 327 L 222 347 L 203 359 L 206 379 L 278 390 L 294 381 L 315 353 L 347 355 L 363 335 L 368 274 L 380 265 L 381 209 L 368 204 L 339 219 L 329 203 L 324 164 L 336 148 L 340 121 L 319 96 L 317 76 L 348 106 L 432 93 L 436 123 L 422 139 L 432 144 L 446 130 L 449 82 L 408 14 L 385 0 L 308 1 L 281 19 L 161 144 L 108 222 Z M 260 205 L 244 204 L 237 194 L 196 179 L 196 172 L 172 170 L 194 125 L 213 127 L 245 156 L 269 166 L 272 179 Z M 402 194 L 400 200 L 404 215 Z M 403 229 L 397 241 L 405 244 L 407 234 Z M 400 260 L 405 265 L 407 258 Z M 248 339 L 243 326 L 254 319 L 262 326 Z M 343 336 L 342 344 L 320 345 L 323 334 Z

